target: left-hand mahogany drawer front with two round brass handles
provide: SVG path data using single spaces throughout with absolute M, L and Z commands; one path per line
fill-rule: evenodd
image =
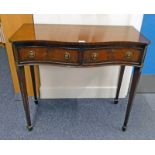
M 20 62 L 78 63 L 78 50 L 47 47 L 22 47 L 18 49 Z

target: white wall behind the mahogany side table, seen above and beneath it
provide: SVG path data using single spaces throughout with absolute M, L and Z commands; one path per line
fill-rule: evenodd
M 133 25 L 141 28 L 143 15 L 34 15 L 34 23 Z M 37 35 L 37 33 L 36 33 Z M 40 65 L 41 98 L 113 98 L 119 66 L 74 68 Z M 126 67 L 120 97 L 126 97 L 131 77 Z

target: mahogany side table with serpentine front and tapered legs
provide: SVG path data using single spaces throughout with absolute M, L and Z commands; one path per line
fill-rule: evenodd
M 122 130 L 129 120 L 136 87 L 149 45 L 131 26 L 24 24 L 10 38 L 12 43 L 27 128 L 32 130 L 24 65 L 29 65 L 35 103 L 38 103 L 34 65 L 50 64 L 74 67 L 120 65 L 114 103 L 118 103 L 125 66 L 133 66 L 133 78 Z

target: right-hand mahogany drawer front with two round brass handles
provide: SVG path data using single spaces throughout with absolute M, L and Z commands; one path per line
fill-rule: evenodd
M 84 52 L 84 64 L 89 63 L 135 63 L 139 64 L 142 51 L 132 48 L 90 49 Z

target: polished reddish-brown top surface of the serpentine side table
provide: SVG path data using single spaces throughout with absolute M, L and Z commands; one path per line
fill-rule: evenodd
M 137 42 L 149 44 L 149 40 L 132 26 L 64 24 L 24 24 L 14 33 L 10 41 Z

